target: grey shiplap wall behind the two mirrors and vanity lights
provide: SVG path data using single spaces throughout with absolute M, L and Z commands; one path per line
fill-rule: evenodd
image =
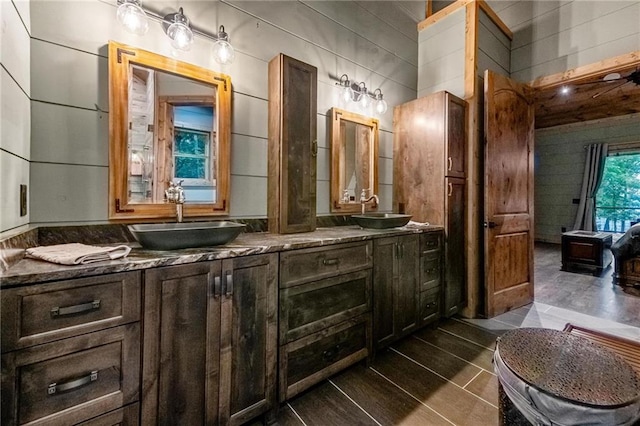
M 234 63 L 220 66 L 211 57 L 212 42 L 196 37 L 191 51 L 179 58 L 232 79 L 231 217 L 266 217 L 267 64 L 279 52 L 318 68 L 319 214 L 329 213 L 326 116 L 337 105 L 334 83 L 347 73 L 370 90 L 381 88 L 389 111 L 380 119 L 379 195 L 382 210 L 390 211 L 392 111 L 416 97 L 416 26 L 424 3 L 148 0 L 144 5 L 160 15 L 181 6 L 194 27 L 210 33 L 222 24 L 236 48 Z M 31 1 L 34 225 L 107 220 L 107 41 L 170 56 L 158 23 L 151 21 L 143 37 L 130 35 L 115 11 L 115 1 Z

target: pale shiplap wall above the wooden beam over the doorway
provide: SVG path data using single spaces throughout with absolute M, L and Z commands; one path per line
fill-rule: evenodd
M 640 50 L 640 1 L 488 4 L 513 31 L 511 76 L 519 81 Z

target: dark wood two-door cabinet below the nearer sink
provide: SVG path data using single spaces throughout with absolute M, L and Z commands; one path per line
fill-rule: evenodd
M 242 424 L 276 403 L 277 254 L 150 269 L 142 424 Z

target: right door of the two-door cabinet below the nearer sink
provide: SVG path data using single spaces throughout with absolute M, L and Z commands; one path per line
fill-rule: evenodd
M 278 255 L 223 261 L 220 424 L 275 406 Z

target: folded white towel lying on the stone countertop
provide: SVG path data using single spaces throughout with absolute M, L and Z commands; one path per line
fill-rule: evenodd
M 125 245 L 98 247 L 71 243 L 29 248 L 27 249 L 27 257 L 62 265 L 82 265 L 125 257 L 130 251 L 131 247 Z

